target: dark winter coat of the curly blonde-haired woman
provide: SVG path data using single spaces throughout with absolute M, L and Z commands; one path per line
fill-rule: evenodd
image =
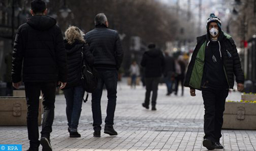
M 82 47 L 84 47 L 84 49 L 82 49 Z M 89 46 L 78 40 L 76 40 L 73 44 L 69 44 L 68 41 L 65 40 L 65 48 L 67 52 L 68 81 L 64 89 L 69 89 L 71 87 L 81 85 L 82 52 L 83 57 L 85 57 L 89 65 L 93 65 L 94 58 L 89 50 Z

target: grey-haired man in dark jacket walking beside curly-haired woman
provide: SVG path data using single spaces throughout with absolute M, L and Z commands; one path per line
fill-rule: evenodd
M 117 70 L 122 63 L 123 51 L 119 35 L 108 28 L 107 17 L 97 14 L 94 18 L 95 29 L 86 35 L 86 42 L 94 56 L 94 66 L 98 71 L 98 86 L 92 93 L 93 135 L 100 137 L 102 124 L 100 101 L 103 86 L 107 89 L 107 116 L 104 133 L 117 135 L 113 128 L 116 106 Z

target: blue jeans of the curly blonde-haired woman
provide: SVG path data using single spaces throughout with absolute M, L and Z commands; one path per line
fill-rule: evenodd
M 77 131 L 85 90 L 82 86 L 77 86 L 63 91 L 67 104 L 66 114 L 69 128 L 71 131 Z

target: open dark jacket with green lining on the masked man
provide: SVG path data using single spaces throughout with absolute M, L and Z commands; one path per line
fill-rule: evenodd
M 241 68 L 240 58 L 231 36 L 221 31 L 218 39 L 221 44 L 221 54 L 224 63 L 223 68 L 229 89 L 233 89 L 234 74 L 237 83 L 243 84 L 244 82 L 244 74 Z M 210 38 L 208 35 L 197 37 L 197 46 L 193 52 L 186 72 L 184 82 L 185 87 L 201 90 L 205 64 L 205 50 L 209 40 Z

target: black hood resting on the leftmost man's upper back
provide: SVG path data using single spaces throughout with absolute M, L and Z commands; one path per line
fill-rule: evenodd
M 56 25 L 57 21 L 49 16 L 35 15 L 27 23 L 36 30 L 45 31 Z

